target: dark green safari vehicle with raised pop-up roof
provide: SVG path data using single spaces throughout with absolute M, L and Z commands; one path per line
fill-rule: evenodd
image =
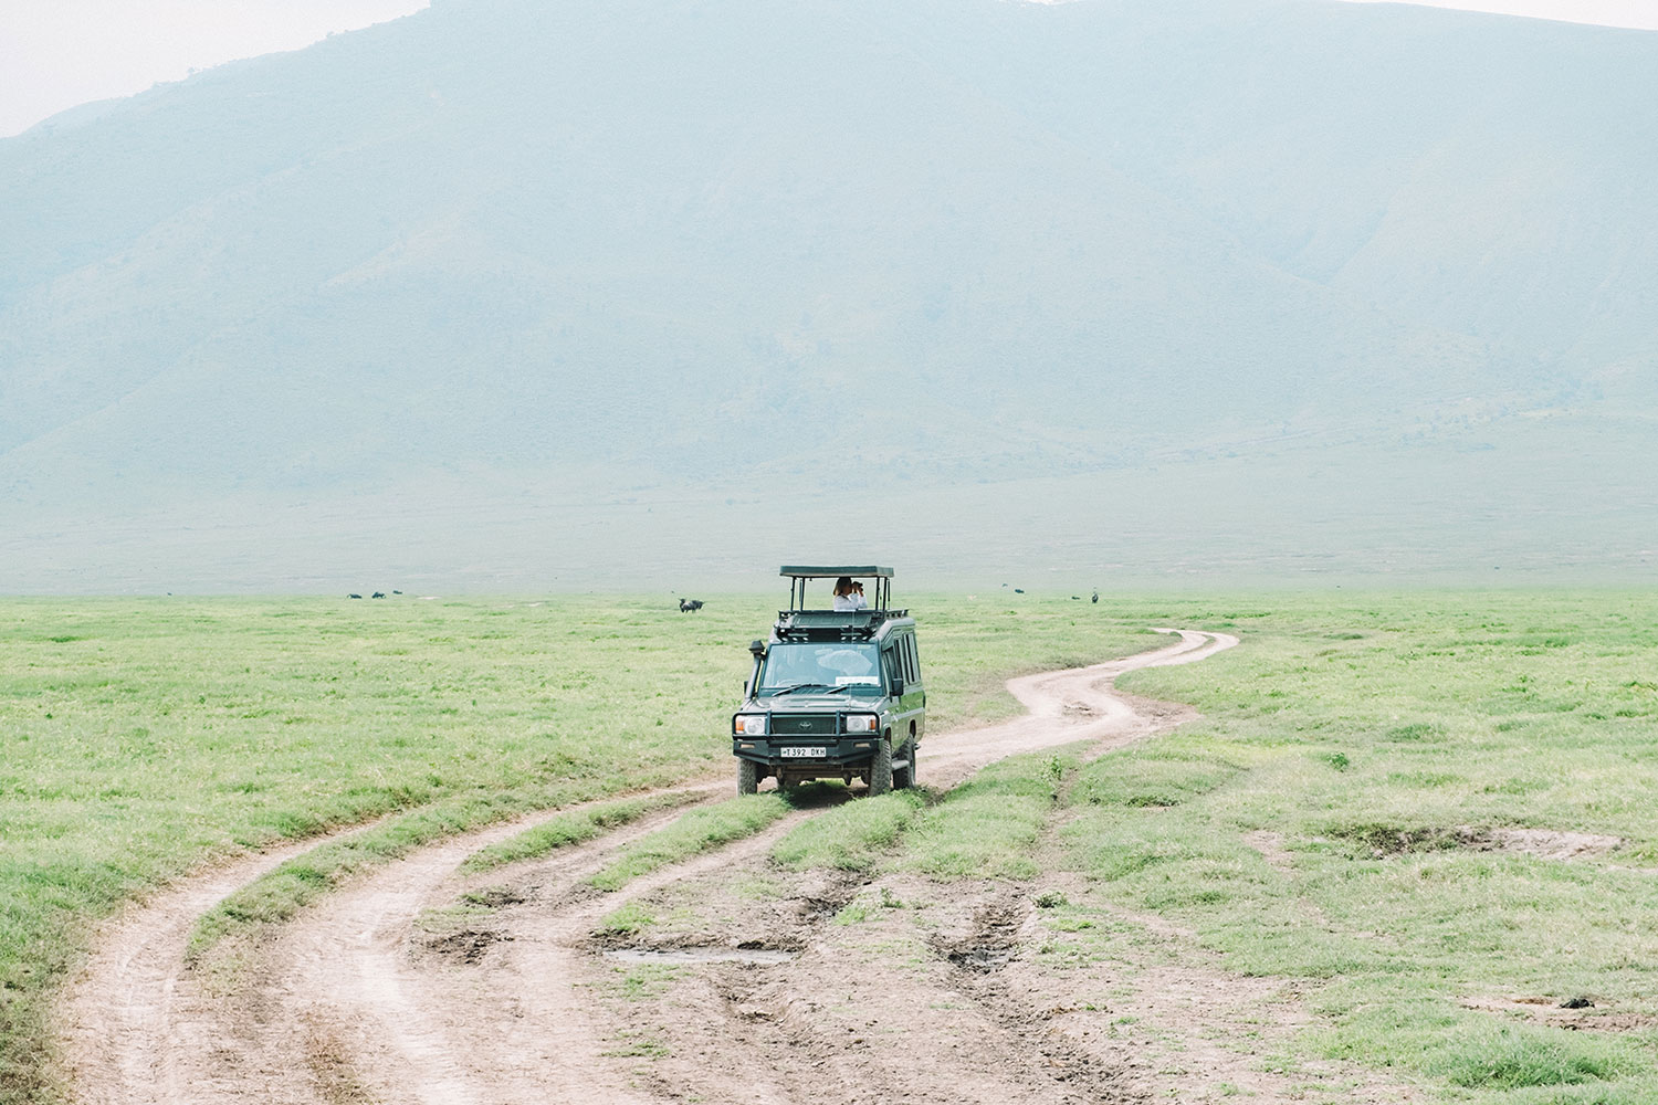
M 789 608 L 769 641 L 754 641 L 754 674 L 731 717 L 736 790 L 763 779 L 862 779 L 870 794 L 915 785 L 915 747 L 927 722 L 915 620 L 892 610 L 892 568 L 783 565 Z M 829 610 L 834 580 L 869 580 L 864 610 Z M 807 605 L 819 583 L 822 606 Z

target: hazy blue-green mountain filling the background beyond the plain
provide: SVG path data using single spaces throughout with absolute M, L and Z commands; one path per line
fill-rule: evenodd
M 1321 0 L 449 0 L 212 70 L 0 141 L 0 590 L 1638 563 L 1655 71 Z

